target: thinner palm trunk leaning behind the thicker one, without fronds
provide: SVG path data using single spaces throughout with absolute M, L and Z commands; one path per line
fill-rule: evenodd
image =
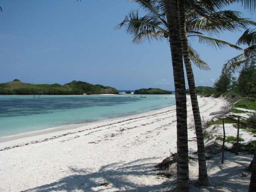
M 199 110 L 197 96 L 196 96 L 194 74 L 193 74 L 189 52 L 188 52 L 188 39 L 187 39 L 186 23 L 185 23 L 185 0 L 178 0 L 178 15 L 179 15 L 182 53 L 183 53 L 184 64 L 186 68 L 190 98 L 192 103 L 192 111 L 194 115 L 194 122 L 195 122 L 195 129 L 196 129 L 198 165 L 199 165 L 198 184 L 203 186 L 209 186 L 210 183 L 208 180 L 207 169 L 206 169 L 202 122 L 201 122 L 200 110 Z

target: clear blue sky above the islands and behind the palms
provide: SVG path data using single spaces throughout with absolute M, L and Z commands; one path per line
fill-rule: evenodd
M 80 80 L 118 90 L 174 90 L 167 40 L 136 45 L 124 29 L 113 30 L 130 10 L 139 8 L 134 2 L 1 0 L 0 6 L 0 83 L 19 79 L 63 85 Z M 230 9 L 255 20 L 239 4 Z M 218 38 L 235 44 L 242 32 Z M 211 68 L 203 71 L 193 65 L 196 86 L 213 86 L 224 62 L 241 53 L 215 50 L 196 39 L 192 45 Z

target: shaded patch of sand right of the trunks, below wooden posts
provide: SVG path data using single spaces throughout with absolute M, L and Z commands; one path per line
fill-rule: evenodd
M 211 186 L 198 186 L 197 178 L 190 180 L 190 191 L 230 191 L 248 192 L 251 172 L 247 170 L 252 155 L 239 154 L 238 156 L 225 152 L 224 164 L 221 164 L 221 155 L 215 155 L 207 160 L 208 178 Z M 242 172 L 248 172 L 249 176 L 243 177 Z

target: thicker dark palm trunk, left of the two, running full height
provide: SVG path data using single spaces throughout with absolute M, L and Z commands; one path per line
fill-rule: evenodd
M 176 0 L 163 0 L 169 28 L 169 41 L 172 54 L 174 75 L 176 117 L 177 117 L 177 189 L 178 192 L 189 191 L 188 177 L 188 129 L 186 108 L 186 87 L 182 60 L 182 47 L 178 24 Z

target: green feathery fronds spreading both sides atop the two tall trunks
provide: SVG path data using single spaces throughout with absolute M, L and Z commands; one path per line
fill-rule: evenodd
M 137 2 L 143 8 L 146 15 L 139 17 L 138 10 L 131 10 L 125 19 L 118 24 L 114 30 L 126 28 L 126 33 L 133 36 L 134 44 L 141 44 L 151 40 L 163 40 L 169 37 L 168 25 L 166 22 L 166 14 L 162 0 L 132 0 Z M 222 5 L 223 6 L 223 5 Z M 221 8 L 222 6 L 217 6 Z M 212 8 L 212 7 L 211 7 Z M 234 32 L 240 28 L 246 29 L 249 25 L 256 23 L 246 18 L 241 18 L 240 12 L 231 10 L 216 11 L 212 8 L 210 13 L 201 16 L 191 6 L 186 9 L 186 28 L 188 37 L 198 38 L 200 43 L 207 44 L 214 48 L 223 48 L 230 46 L 232 48 L 242 50 L 238 46 L 212 38 L 212 35 L 219 35 L 225 30 Z M 208 36 L 205 36 L 207 34 Z M 203 70 L 210 70 L 208 64 L 200 59 L 200 55 L 194 50 L 189 43 L 190 59 L 192 62 Z

